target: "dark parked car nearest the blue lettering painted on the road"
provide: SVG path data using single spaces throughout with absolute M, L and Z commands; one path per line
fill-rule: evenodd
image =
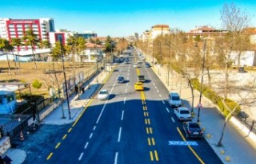
M 183 130 L 186 133 L 186 138 L 202 138 L 203 131 L 198 123 L 185 122 Z

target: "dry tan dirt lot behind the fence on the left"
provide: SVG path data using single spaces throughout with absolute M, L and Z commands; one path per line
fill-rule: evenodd
M 35 69 L 34 62 L 22 62 L 20 63 L 20 72 L 15 69 L 15 63 L 10 61 L 10 72 L 8 69 L 7 61 L 0 61 L 0 83 L 2 82 L 26 82 L 30 83 L 31 92 L 35 95 L 49 96 L 48 88 L 50 86 L 57 87 L 54 78 L 54 74 L 47 73 L 49 70 L 52 70 L 52 63 L 49 62 L 37 62 L 38 68 Z M 94 63 L 81 64 L 78 68 L 78 65 L 71 64 L 66 62 L 66 79 L 74 76 L 79 72 L 84 72 L 84 76 L 88 76 L 91 71 L 95 68 Z M 18 63 L 17 63 L 18 67 Z M 58 71 L 57 76 L 59 81 L 63 81 L 63 72 L 62 72 L 62 63 L 55 63 L 55 70 Z M 32 87 L 34 80 L 39 80 L 42 83 L 42 88 L 36 89 Z

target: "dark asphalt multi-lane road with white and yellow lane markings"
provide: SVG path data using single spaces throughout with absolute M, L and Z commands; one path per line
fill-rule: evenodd
M 150 68 L 133 68 L 137 60 L 118 64 L 103 87 L 109 99 L 93 100 L 44 163 L 222 163 L 205 139 L 185 142 L 167 89 Z M 138 73 L 143 92 L 134 90 Z M 118 84 L 118 75 L 126 82 Z

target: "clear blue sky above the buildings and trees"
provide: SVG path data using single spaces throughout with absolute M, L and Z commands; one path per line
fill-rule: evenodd
M 220 10 L 231 1 L 206 0 L 2 0 L 0 18 L 54 18 L 55 29 L 93 30 L 99 37 L 142 34 L 152 25 L 184 31 L 195 26 L 221 28 Z M 234 0 L 256 26 L 256 0 Z

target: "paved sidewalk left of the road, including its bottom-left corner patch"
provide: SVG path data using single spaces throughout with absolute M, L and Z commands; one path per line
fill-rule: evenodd
M 59 105 L 54 111 L 47 115 L 45 119 L 42 120 L 42 124 L 54 124 L 54 125 L 62 125 L 73 123 L 75 119 L 78 118 L 78 115 L 85 109 L 87 103 L 89 103 L 91 96 L 94 95 L 94 92 L 97 91 L 98 88 L 101 87 L 101 84 L 104 84 L 110 72 L 102 71 L 95 76 L 92 81 L 90 81 L 90 85 L 82 86 L 85 87 L 85 92 L 79 95 L 72 94 L 69 98 L 70 100 L 70 115 L 67 107 L 67 102 L 63 103 L 63 112 L 62 105 Z M 90 86 L 90 87 L 89 87 Z M 63 118 L 62 116 L 65 116 Z M 13 160 L 12 164 L 21 164 L 26 159 L 26 152 L 20 149 L 10 148 L 6 151 L 6 154 Z M 2 154 L 2 158 L 6 155 Z

